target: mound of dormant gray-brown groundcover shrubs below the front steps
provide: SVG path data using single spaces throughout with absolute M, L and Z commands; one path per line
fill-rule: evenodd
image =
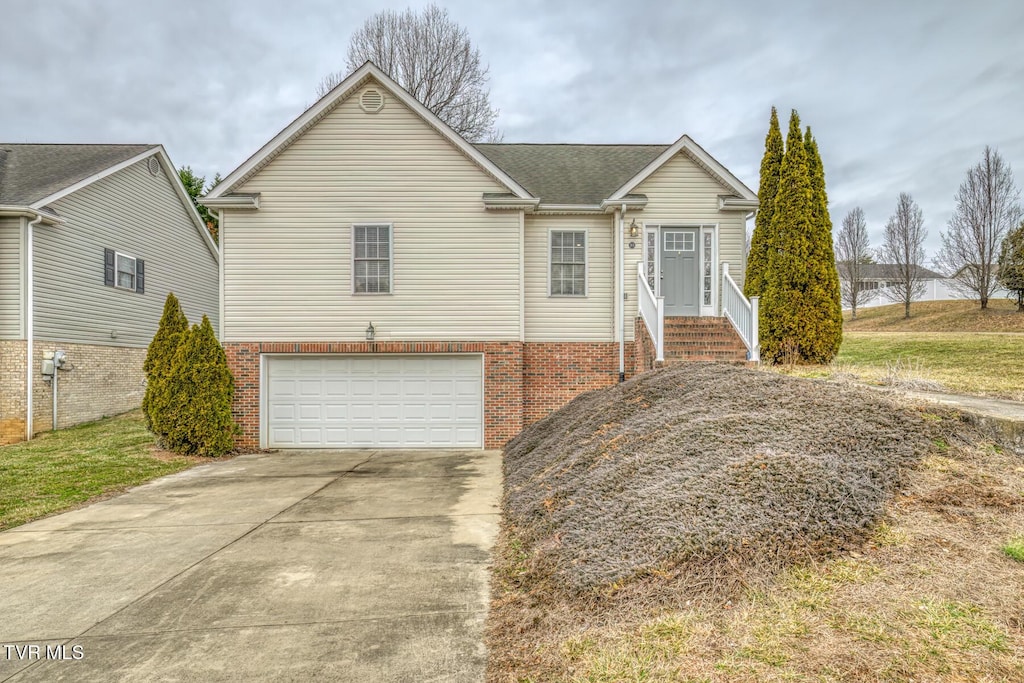
M 880 518 L 936 424 L 852 386 L 724 365 L 648 373 L 509 443 L 505 532 L 527 573 L 570 593 L 733 552 L 827 552 Z

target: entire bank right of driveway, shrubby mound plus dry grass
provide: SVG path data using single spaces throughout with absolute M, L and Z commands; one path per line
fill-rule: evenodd
M 507 468 L 490 681 L 1024 680 L 1024 463 L 955 415 L 680 367 Z

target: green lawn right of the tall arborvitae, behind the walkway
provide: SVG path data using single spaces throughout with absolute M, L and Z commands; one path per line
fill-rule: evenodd
M 798 367 L 805 376 L 837 373 L 870 382 L 887 378 L 939 382 L 954 393 L 1024 400 L 1024 334 L 851 332 L 827 367 Z

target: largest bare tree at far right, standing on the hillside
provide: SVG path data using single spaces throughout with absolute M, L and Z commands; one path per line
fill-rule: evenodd
M 996 259 L 1004 238 L 1021 219 L 1019 199 L 1010 164 L 986 146 L 956 190 L 949 229 L 940 232 L 936 264 L 953 275 L 954 289 L 977 296 L 982 308 L 988 308 L 988 297 L 998 287 Z

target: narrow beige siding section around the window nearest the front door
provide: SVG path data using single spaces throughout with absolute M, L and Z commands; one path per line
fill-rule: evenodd
M 613 341 L 611 215 L 526 216 L 526 341 Z M 586 230 L 587 296 L 548 296 L 551 230 Z

